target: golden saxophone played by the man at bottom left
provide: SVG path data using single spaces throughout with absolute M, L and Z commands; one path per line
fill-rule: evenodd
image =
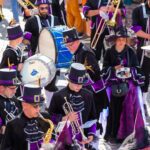
M 43 120 L 43 121 L 45 121 L 45 122 L 47 122 L 47 123 L 49 123 L 49 129 L 47 130 L 47 132 L 46 132 L 46 135 L 45 135 L 45 137 L 44 137 L 44 144 L 49 144 L 49 142 L 50 142 L 50 140 L 51 140 L 51 138 L 52 138 L 52 132 L 53 132 L 53 130 L 54 130 L 54 124 L 53 124 L 53 122 L 50 120 L 50 119 L 45 119 L 43 116 L 42 116 L 42 114 L 40 114 L 39 113 L 39 117 Z

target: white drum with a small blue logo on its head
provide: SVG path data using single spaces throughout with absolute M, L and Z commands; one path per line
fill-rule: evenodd
M 28 58 L 21 70 L 23 84 L 35 84 L 45 87 L 54 78 L 56 67 L 52 59 L 36 54 Z

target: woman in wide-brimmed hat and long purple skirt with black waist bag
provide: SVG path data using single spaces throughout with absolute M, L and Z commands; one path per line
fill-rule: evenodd
M 103 64 L 110 101 L 106 138 L 118 142 L 132 133 L 136 116 L 135 129 L 145 123 L 139 87 L 144 84 L 144 77 L 140 74 L 136 54 L 126 45 L 127 37 L 126 28 L 115 30 L 115 34 L 110 36 L 110 40 L 115 40 L 115 45 L 107 50 Z

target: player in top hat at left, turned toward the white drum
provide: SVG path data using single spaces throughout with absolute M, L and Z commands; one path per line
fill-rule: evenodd
M 0 67 L 1 68 L 8 67 L 8 65 L 11 64 L 13 65 L 12 67 L 14 69 L 17 69 L 17 71 L 21 71 L 22 69 L 21 51 L 17 48 L 17 46 L 23 40 L 23 32 L 19 24 L 13 24 L 13 21 L 11 23 L 7 27 L 9 44 L 3 53 Z

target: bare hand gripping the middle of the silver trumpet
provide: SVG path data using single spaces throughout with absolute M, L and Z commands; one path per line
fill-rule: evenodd
M 70 112 L 68 115 L 62 118 L 62 121 L 69 120 L 70 122 L 78 121 L 78 114 L 77 112 Z

